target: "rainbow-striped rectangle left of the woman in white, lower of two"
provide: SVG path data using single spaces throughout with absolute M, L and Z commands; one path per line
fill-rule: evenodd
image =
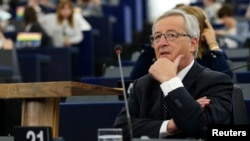
M 16 48 L 40 47 L 42 34 L 39 32 L 19 32 L 16 37 Z

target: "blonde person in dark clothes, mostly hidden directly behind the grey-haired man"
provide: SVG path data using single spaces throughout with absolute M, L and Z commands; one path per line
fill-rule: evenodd
M 186 11 L 188 14 L 194 15 L 199 22 L 200 40 L 199 49 L 196 56 L 196 61 L 212 70 L 220 71 L 233 77 L 233 72 L 230 71 L 229 60 L 227 55 L 220 48 L 217 42 L 215 31 L 208 21 L 204 11 L 195 6 L 176 7 Z M 131 73 L 132 80 L 142 77 L 148 73 L 148 69 L 155 61 L 155 54 L 151 45 L 144 45 L 144 52 L 141 53 L 136 61 Z

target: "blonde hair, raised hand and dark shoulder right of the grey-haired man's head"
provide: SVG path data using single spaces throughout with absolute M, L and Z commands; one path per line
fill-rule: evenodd
M 182 6 L 180 9 L 190 15 L 194 15 L 200 25 L 201 38 L 199 40 L 196 61 L 212 70 L 226 73 L 232 78 L 233 72 L 230 70 L 229 59 L 223 49 L 220 48 L 215 31 L 204 11 L 197 6 Z

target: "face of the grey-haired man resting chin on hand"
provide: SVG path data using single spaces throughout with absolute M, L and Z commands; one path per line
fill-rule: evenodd
M 194 58 L 193 54 L 198 42 L 195 38 L 188 36 L 184 24 L 185 21 L 182 16 L 165 17 L 155 24 L 154 37 L 165 33 L 181 34 L 174 40 L 165 39 L 164 35 L 162 35 L 158 42 L 153 42 L 152 46 L 155 49 L 157 58 L 168 58 L 171 61 L 175 60 L 178 55 L 184 55 L 182 60 L 186 61 Z M 172 37 L 171 35 L 169 37 Z

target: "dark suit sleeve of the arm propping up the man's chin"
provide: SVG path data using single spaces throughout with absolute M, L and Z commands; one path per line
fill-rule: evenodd
M 164 98 L 176 125 L 188 136 L 201 135 L 201 129 L 209 124 L 230 122 L 233 90 L 231 79 L 221 73 L 210 74 L 200 74 L 191 92 L 181 87 Z M 202 96 L 211 100 L 204 109 L 196 102 Z

